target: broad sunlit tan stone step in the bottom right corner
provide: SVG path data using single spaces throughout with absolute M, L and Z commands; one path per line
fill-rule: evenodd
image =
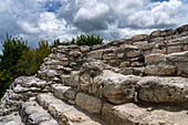
M 104 104 L 102 116 L 111 125 L 188 125 L 186 110 L 167 105 Z

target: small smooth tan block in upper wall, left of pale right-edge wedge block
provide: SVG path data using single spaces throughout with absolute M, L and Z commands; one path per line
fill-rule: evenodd
M 158 63 L 165 60 L 165 55 L 160 53 L 149 54 L 145 56 L 145 63 Z

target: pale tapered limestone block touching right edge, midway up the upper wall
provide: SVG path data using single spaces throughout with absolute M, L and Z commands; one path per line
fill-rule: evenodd
M 188 51 L 166 55 L 171 62 L 188 62 Z

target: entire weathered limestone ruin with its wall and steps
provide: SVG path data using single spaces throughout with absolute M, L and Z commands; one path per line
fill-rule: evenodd
M 0 125 L 188 125 L 187 110 L 188 24 L 54 48 L 10 85 Z

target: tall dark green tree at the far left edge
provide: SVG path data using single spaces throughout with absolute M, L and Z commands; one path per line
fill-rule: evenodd
M 21 38 L 12 38 L 8 33 L 2 37 L 2 54 L 0 55 L 0 98 L 6 93 L 13 79 L 18 76 L 15 65 L 27 49 L 27 41 Z

